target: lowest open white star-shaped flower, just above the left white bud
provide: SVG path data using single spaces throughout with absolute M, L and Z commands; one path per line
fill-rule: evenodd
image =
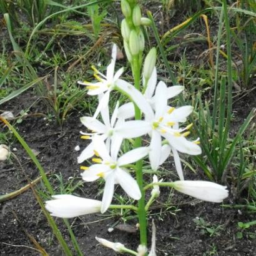
M 114 184 L 120 184 L 122 189 L 124 189 L 124 191 L 126 191 L 126 193 L 135 200 L 139 200 L 141 197 L 137 182 L 123 166 L 142 159 L 148 154 L 149 149 L 147 149 L 147 147 L 138 147 L 137 149 L 130 150 L 126 154 L 117 158 L 120 144 L 119 142 L 115 143 L 117 144 L 116 150 L 113 150 L 110 155 L 104 141 L 101 137 L 95 135 L 93 139 L 94 150 L 96 150 L 101 159 L 92 159 L 98 164 L 91 165 L 81 174 L 82 179 L 87 182 L 99 179 L 99 177 L 106 180 L 101 205 L 102 213 L 106 212 L 111 204 L 114 194 Z

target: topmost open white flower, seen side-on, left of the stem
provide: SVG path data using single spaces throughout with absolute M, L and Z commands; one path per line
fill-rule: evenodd
M 114 89 L 117 79 L 119 79 L 119 77 L 122 75 L 122 72 L 124 72 L 124 69 L 121 68 L 116 72 L 116 74 L 114 74 L 116 56 L 117 56 L 117 46 L 116 44 L 114 44 L 112 48 L 112 59 L 109 66 L 107 66 L 106 76 L 101 72 L 99 72 L 96 69 L 96 67 L 92 67 L 92 69 L 94 69 L 94 77 L 96 77 L 96 79 L 99 82 L 91 83 L 86 81 L 84 82 L 78 81 L 79 84 L 87 86 L 87 88 L 89 89 L 88 91 L 89 95 L 99 96 L 99 105 L 97 106 L 96 112 L 94 113 L 94 118 L 98 116 L 101 109 L 103 109 L 109 104 L 110 92 Z

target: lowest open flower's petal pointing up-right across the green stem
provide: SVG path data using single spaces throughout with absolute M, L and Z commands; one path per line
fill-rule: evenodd
M 149 154 L 148 147 L 137 147 L 137 149 L 132 149 L 126 154 L 119 157 L 119 159 L 117 160 L 117 164 L 119 166 L 122 166 L 133 162 L 137 162 L 137 160 L 142 159 L 147 154 Z

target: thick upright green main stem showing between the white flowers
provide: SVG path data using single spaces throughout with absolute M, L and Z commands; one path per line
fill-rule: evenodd
M 131 63 L 132 74 L 134 76 L 134 86 L 140 91 L 140 64 L 139 56 L 134 56 Z M 135 109 L 135 120 L 141 120 L 141 112 L 139 107 L 134 104 Z M 142 145 L 140 137 L 135 139 L 135 148 Z M 141 198 L 138 202 L 138 216 L 140 224 L 140 244 L 147 246 L 147 219 L 145 212 L 145 192 L 143 190 L 143 172 L 142 172 L 142 160 L 139 160 L 135 164 L 136 167 L 136 179 L 140 188 Z

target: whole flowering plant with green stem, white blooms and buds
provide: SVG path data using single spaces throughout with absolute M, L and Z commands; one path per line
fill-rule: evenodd
M 137 252 L 127 249 L 119 242 L 110 242 L 96 237 L 102 245 L 116 252 L 126 252 L 131 255 L 147 254 L 147 211 L 156 197 L 159 197 L 160 186 L 173 189 L 200 200 L 220 203 L 228 196 L 226 187 L 202 180 L 184 180 L 179 152 L 201 154 L 199 140 L 189 140 L 192 124 L 182 126 L 193 111 L 192 106 L 173 107 L 167 104 L 168 99 L 183 91 L 182 86 L 170 86 L 160 81 L 157 84 L 155 69 L 156 49 L 150 49 L 145 56 L 143 70 L 142 59 L 144 51 L 144 36 L 141 26 L 149 26 L 150 20 L 141 17 L 140 7 L 135 0 L 121 1 L 124 20 L 121 32 L 124 39 L 124 49 L 130 62 L 134 83 L 121 79 L 124 69 L 115 73 L 117 56 L 116 44 L 112 47 L 112 59 L 107 66 L 106 75 L 94 70 L 96 82 L 79 81 L 87 87 L 88 94 L 98 96 L 99 104 L 93 117 L 81 117 L 81 122 L 89 132 L 81 132 L 82 139 L 91 142 L 82 150 L 78 157 L 79 164 L 91 159 L 94 164 L 81 166 L 82 179 L 93 182 L 105 180 L 102 200 L 83 199 L 74 195 L 55 195 L 53 200 L 46 202 L 46 209 L 52 215 L 62 218 L 72 218 L 83 214 L 104 213 L 107 209 L 131 209 L 139 216 L 140 245 Z M 141 72 L 142 70 L 142 72 Z M 142 73 L 142 74 L 141 74 Z M 142 75 L 142 77 L 141 77 Z M 142 79 L 141 79 L 142 78 Z M 142 85 L 140 81 L 142 80 Z M 127 96 L 130 103 L 119 106 L 109 116 L 109 99 L 112 91 L 119 91 Z M 97 117 L 101 114 L 102 121 Z M 142 135 L 150 137 L 149 145 L 142 146 Z M 134 149 L 121 153 L 121 145 L 126 139 L 134 139 Z M 177 181 L 158 181 L 154 175 L 152 183 L 144 186 L 144 159 L 149 159 L 152 170 L 169 157 L 174 156 L 175 167 L 179 179 Z M 135 163 L 135 164 L 132 164 Z M 135 175 L 134 175 L 135 174 Z M 135 205 L 112 205 L 115 185 L 121 185 L 129 197 L 135 200 Z M 152 189 L 151 197 L 145 202 L 145 191 Z M 155 254 L 155 247 L 149 252 Z

